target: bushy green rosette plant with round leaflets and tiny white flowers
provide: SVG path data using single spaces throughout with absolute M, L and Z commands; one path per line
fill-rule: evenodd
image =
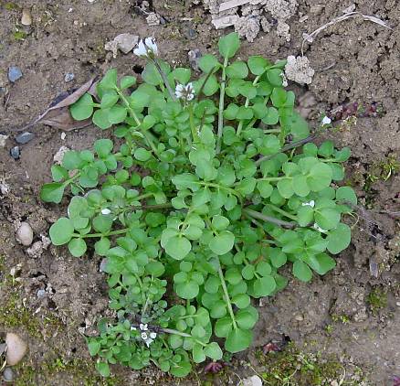
M 88 339 L 104 376 L 117 362 L 185 376 L 193 361 L 222 358 L 214 337 L 231 353 L 248 348 L 258 320 L 251 298 L 286 286 L 279 269 L 289 263 L 308 282 L 335 266 L 327 252 L 350 243 L 341 218 L 356 197 L 332 186 L 350 150 L 308 143 L 294 93 L 282 88 L 284 61 L 230 62 L 235 33 L 218 48 L 223 62 L 205 55 L 191 83 L 190 70 L 171 70 L 152 39 L 141 42 L 142 84 L 129 91 L 136 79 L 109 70 L 98 100 L 87 93 L 71 108 L 77 120 L 113 127 L 120 145 L 69 151 L 41 190 L 47 202 L 68 187 L 73 195 L 68 217 L 50 228 L 53 243 L 79 257 L 94 240 L 107 258 L 116 317 Z

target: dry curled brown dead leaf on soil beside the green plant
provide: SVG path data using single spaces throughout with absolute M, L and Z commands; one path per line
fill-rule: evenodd
M 62 98 L 61 101 L 57 102 L 56 104 L 54 104 L 54 102 L 50 104 L 50 107 L 47 108 L 46 112 L 39 115 L 35 121 L 26 124 L 26 126 L 16 131 L 24 131 L 37 123 L 44 123 L 48 126 L 62 129 L 64 131 L 71 131 L 74 129 L 80 129 L 82 127 L 89 126 L 89 124 L 91 123 L 90 119 L 85 121 L 74 120 L 69 113 L 68 107 L 71 104 L 77 102 L 85 92 L 89 92 L 91 95 L 96 97 L 96 83 L 96 78 L 88 80 L 85 84 L 80 86 L 78 90 L 67 94 L 67 96 L 65 98 Z

